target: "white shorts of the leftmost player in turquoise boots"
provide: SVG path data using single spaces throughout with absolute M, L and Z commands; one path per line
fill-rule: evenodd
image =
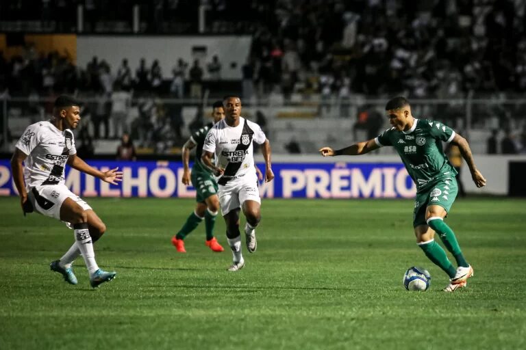
M 71 198 L 87 211 L 88 203 L 70 191 L 66 185 L 44 185 L 27 189 L 27 198 L 38 213 L 60 220 L 60 207 L 66 198 Z

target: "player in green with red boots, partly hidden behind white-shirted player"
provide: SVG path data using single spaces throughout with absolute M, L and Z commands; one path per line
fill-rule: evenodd
M 225 118 L 225 111 L 223 110 L 223 102 L 217 101 L 212 105 L 212 118 L 214 118 L 214 124 Z M 203 144 L 205 142 L 206 134 L 212 127 L 212 123 L 203 126 L 201 129 L 196 131 L 190 136 L 190 139 L 183 146 L 183 178 L 182 183 L 184 185 L 190 185 L 190 167 L 188 162 L 190 160 L 190 150 L 195 150 L 195 162 L 192 166 L 191 180 L 194 185 L 197 195 L 197 204 L 195 211 L 188 216 L 181 230 L 172 238 L 172 244 L 175 245 L 175 249 L 179 253 L 186 253 L 184 248 L 184 239 L 190 234 L 201 221 L 205 221 L 205 232 L 206 242 L 205 244 L 210 247 L 214 252 L 223 252 L 223 247 L 218 243 L 216 237 L 214 237 L 214 226 L 216 223 L 216 216 L 219 209 L 219 200 L 217 196 L 217 183 L 212 174 L 212 170 L 205 167 L 201 163 L 201 153 L 203 152 Z

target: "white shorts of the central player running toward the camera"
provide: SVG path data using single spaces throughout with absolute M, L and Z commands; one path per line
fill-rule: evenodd
M 258 180 L 252 176 L 234 178 L 226 185 L 219 185 L 218 195 L 223 216 L 240 208 L 245 200 L 253 200 L 261 204 Z

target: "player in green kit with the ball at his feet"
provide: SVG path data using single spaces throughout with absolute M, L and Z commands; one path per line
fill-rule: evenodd
M 456 291 L 466 286 L 466 281 L 473 275 L 473 268 L 466 262 L 455 233 L 444 222 L 457 196 L 458 186 L 455 180 L 457 172 L 442 151 L 442 142 L 458 146 L 477 187 L 485 186 L 486 179 L 477 170 L 466 139 L 448 126 L 434 120 L 414 118 L 408 100 L 403 97 L 389 100 L 386 111 L 392 128 L 375 139 L 358 142 L 341 150 L 323 147 L 320 152 L 323 157 L 332 157 L 366 154 L 383 146 L 392 146 L 397 150 L 416 184 L 413 227 L 418 246 L 429 260 L 449 275 L 449 284 L 444 291 Z M 457 269 L 442 247 L 434 241 L 435 232 L 455 257 Z

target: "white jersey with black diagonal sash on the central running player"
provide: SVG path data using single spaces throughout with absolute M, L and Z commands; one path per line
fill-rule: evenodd
M 216 167 L 225 170 L 217 183 L 225 185 L 232 178 L 245 175 L 256 178 L 252 142 L 264 144 L 265 140 L 261 127 L 245 118 L 240 117 L 236 127 L 228 126 L 224 119 L 212 126 L 203 150 L 213 152 Z

